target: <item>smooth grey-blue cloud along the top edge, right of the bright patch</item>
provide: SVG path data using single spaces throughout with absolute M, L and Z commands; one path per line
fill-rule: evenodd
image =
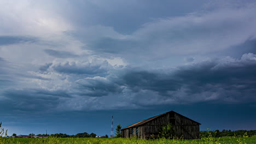
M 184 5 L 186 3 L 186 5 Z M 68 3 L 68 9 L 61 11 L 61 15 L 68 16 L 75 25 L 113 26 L 121 33 L 132 33 L 155 17 L 176 16 L 191 13 L 194 8 L 202 6 L 204 1 L 74 1 Z M 57 5 L 66 3 L 57 3 Z M 114 7 L 118 5 L 119 7 Z M 141 8 L 143 5 L 143 8 Z M 62 7 L 66 7 L 63 5 Z M 131 11 L 132 9 L 132 11 Z M 67 13 L 68 11 L 68 13 Z M 157 13 L 155 13 L 157 11 Z M 75 14 L 74 14 L 75 13 Z M 73 15 L 70 15 L 73 14 Z M 83 14 L 83 15 L 80 15 Z

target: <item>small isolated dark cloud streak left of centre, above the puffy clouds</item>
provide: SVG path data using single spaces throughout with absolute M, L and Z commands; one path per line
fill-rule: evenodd
M 78 55 L 75 55 L 74 53 L 68 52 L 68 51 L 56 51 L 56 50 L 46 49 L 46 50 L 44 50 L 44 52 L 50 56 L 57 57 L 57 58 L 78 57 Z

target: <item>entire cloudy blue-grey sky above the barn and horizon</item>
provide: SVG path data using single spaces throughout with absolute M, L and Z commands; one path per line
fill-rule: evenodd
M 256 1 L 0 0 L 8 135 L 110 135 L 176 111 L 256 129 Z

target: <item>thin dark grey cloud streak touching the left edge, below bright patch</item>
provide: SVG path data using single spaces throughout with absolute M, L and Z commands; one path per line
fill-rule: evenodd
M 22 36 L 0 36 L 0 45 L 11 45 L 11 44 L 18 44 L 18 43 L 34 43 L 37 41 L 37 38 L 32 37 L 22 37 Z

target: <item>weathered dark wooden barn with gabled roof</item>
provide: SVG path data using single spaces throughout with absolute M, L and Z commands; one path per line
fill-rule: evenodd
M 169 111 L 158 116 L 150 117 L 121 129 L 122 137 L 137 136 L 139 139 L 148 139 L 159 134 L 159 128 L 168 123 L 172 124 L 175 135 L 183 139 L 200 139 L 200 123 Z

